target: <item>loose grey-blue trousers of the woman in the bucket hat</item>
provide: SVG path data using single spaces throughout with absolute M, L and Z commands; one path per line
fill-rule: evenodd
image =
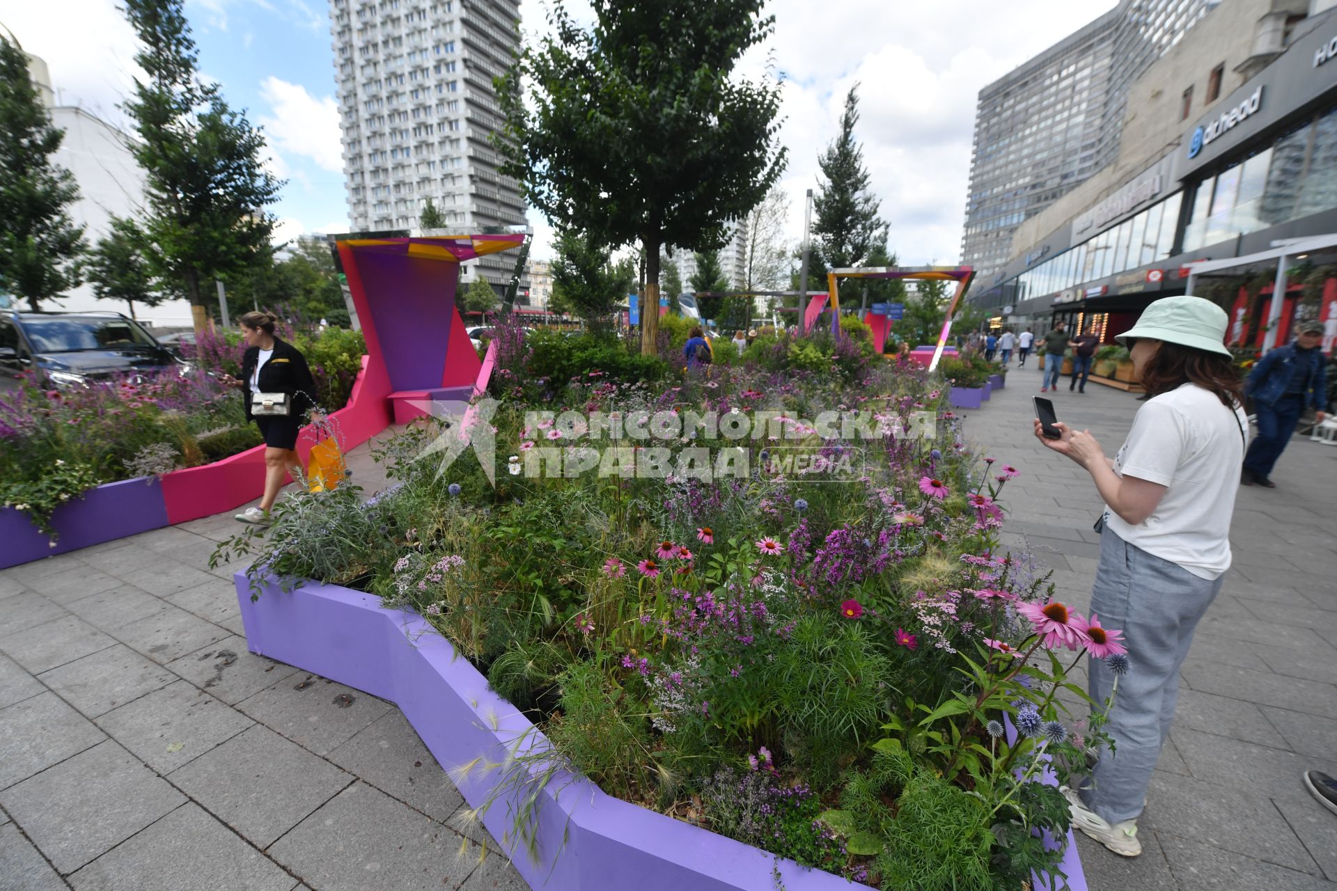
M 1221 590 L 1178 564 L 1154 557 L 1114 534 L 1100 536 L 1100 564 L 1091 590 L 1091 612 L 1104 628 L 1122 628 L 1132 667 L 1119 679 L 1106 731 L 1115 751 L 1102 749 L 1091 781 L 1082 789 L 1088 808 L 1110 823 L 1142 814 L 1151 771 L 1174 720 L 1179 665 L 1189 655 L 1193 631 Z M 1114 673 L 1091 659 L 1091 699 L 1103 703 Z

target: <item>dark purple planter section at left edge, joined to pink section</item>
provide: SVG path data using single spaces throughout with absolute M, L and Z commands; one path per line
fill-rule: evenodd
M 27 513 L 0 508 L 0 569 L 159 529 L 167 525 L 167 504 L 156 477 L 122 480 L 60 505 L 51 522 L 60 530 L 55 548 Z

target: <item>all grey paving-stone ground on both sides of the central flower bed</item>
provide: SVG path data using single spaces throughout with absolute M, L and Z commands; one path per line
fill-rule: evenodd
M 1039 382 L 1013 369 L 967 435 L 1021 472 L 1008 544 L 1086 606 L 1099 500 L 1032 439 Z M 1138 407 L 1099 385 L 1055 403 L 1111 454 Z M 366 448 L 350 465 L 384 482 Z M 1337 818 L 1300 783 L 1337 775 L 1337 448 L 1297 439 L 1274 478 L 1239 493 L 1144 854 L 1080 836 L 1094 891 L 1337 891 Z M 230 512 L 0 572 L 0 888 L 524 888 L 452 828 L 463 800 L 397 708 L 246 651 L 237 566 L 207 568 L 235 529 Z

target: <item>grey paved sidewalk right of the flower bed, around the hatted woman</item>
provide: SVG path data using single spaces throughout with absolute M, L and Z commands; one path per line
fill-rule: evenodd
M 1142 403 L 1067 385 L 1054 394 L 1059 419 L 1112 456 Z M 1003 391 L 965 413 L 967 438 L 1021 472 L 1003 492 L 1007 544 L 1028 544 L 1086 610 L 1102 505 L 1084 470 L 1035 441 L 1039 390 L 1038 369 L 1013 366 Z M 1300 779 L 1306 768 L 1337 776 L 1337 448 L 1297 437 L 1273 480 L 1275 489 L 1239 489 L 1234 565 L 1183 665 L 1139 820 L 1142 856 L 1078 836 L 1092 891 L 1337 891 L 1337 816 Z

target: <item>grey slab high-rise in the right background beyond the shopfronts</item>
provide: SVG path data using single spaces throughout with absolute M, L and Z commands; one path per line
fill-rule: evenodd
M 1019 223 L 1115 158 L 1132 81 L 1219 1 L 1120 0 L 980 91 L 961 262 L 981 282 Z

